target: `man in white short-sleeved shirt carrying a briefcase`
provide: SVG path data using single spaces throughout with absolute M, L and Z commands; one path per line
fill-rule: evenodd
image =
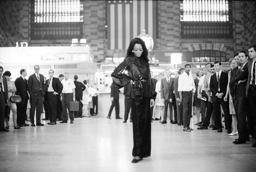
M 60 100 L 62 101 L 62 116 L 63 121 L 60 123 L 67 123 L 68 121 L 68 113 L 67 108 L 69 111 L 69 118 L 70 123 L 74 123 L 74 113 L 70 111 L 69 102 L 75 101 L 75 84 L 72 79 L 69 79 L 69 73 L 64 73 L 64 78 L 61 83 L 63 85 L 62 93 L 60 95 Z

